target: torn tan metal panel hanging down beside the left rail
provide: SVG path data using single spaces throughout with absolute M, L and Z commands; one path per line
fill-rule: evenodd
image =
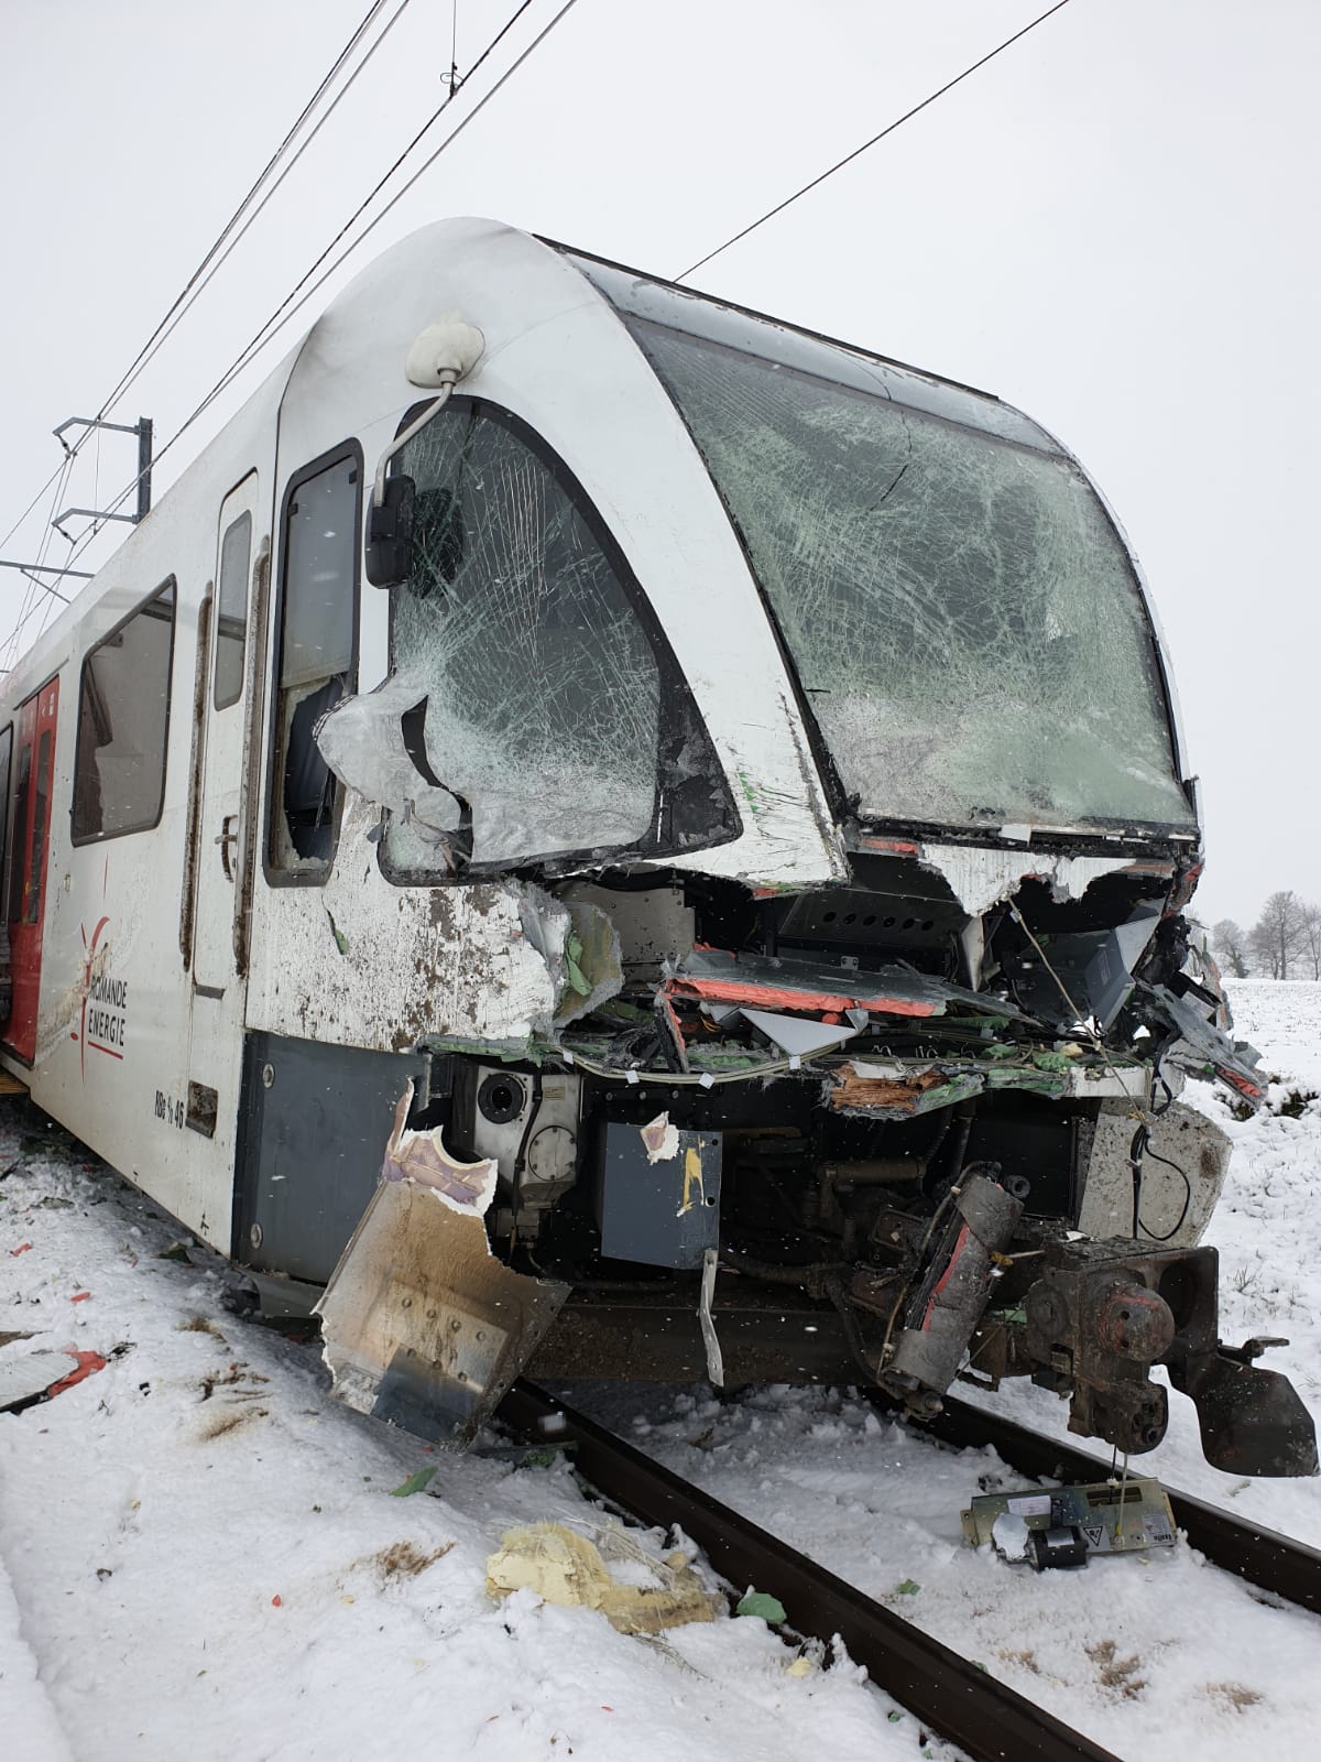
M 467 1214 L 384 1181 L 317 1304 L 335 1396 L 433 1443 L 472 1440 L 535 1350 L 567 1284 L 511 1272 Z

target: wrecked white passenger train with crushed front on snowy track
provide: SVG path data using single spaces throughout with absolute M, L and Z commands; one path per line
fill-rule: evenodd
M 365 268 L 0 691 L 0 1062 L 446 1445 L 1027 1376 L 1316 1473 L 1138 564 L 999 398 L 491 220 Z M 1159 1374 L 1152 1374 L 1159 1369 Z

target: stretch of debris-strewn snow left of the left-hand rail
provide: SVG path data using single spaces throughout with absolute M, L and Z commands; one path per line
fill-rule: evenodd
M 0 1351 L 130 1343 L 0 1415 L 5 1762 L 918 1755 L 847 1660 L 791 1676 L 759 1619 L 650 1642 L 491 1603 L 507 1528 L 599 1519 L 567 1468 L 439 1457 L 347 1411 L 315 1350 L 220 1309 L 218 1262 L 160 1258 L 173 1228 L 114 1177 L 0 1115 L 4 1168 L 0 1332 L 37 1337 Z

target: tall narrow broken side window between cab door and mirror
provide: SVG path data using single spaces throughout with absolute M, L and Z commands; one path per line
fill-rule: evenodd
M 354 449 L 299 474 L 284 516 L 269 862 L 312 877 L 335 855 L 336 786 L 314 729 L 354 685 L 359 488 Z

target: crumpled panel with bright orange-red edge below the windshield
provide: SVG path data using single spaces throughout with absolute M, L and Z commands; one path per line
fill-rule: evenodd
M 831 967 L 808 960 L 770 955 L 733 955 L 720 948 L 697 948 L 666 980 L 673 997 L 703 1003 L 759 1004 L 780 1010 L 868 1015 L 930 1017 L 951 1006 L 985 1015 L 1025 1020 L 1023 1011 L 1000 997 L 970 992 L 948 980 L 912 967 Z

